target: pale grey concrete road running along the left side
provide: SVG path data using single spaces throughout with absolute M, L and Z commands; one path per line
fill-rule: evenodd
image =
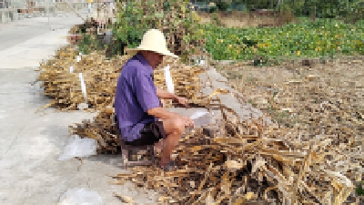
M 86 16 L 86 12 L 83 13 Z M 76 15 L 24 19 L 0 25 L 0 204 L 56 204 L 68 189 L 96 191 L 105 204 L 120 204 L 113 192 L 133 197 L 138 204 L 157 200 L 154 191 L 135 189 L 131 183 L 110 185 L 108 175 L 122 169 L 120 156 L 95 156 L 80 161 L 58 161 L 66 146 L 68 126 L 96 114 L 35 113 L 49 99 L 35 81 L 39 62 L 66 44 L 69 28 L 81 24 Z

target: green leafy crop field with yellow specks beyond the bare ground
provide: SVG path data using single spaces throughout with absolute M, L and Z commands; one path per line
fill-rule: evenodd
M 207 51 L 215 60 L 246 60 L 254 56 L 268 59 L 363 55 L 364 21 L 355 25 L 334 19 L 307 18 L 299 24 L 266 28 L 227 28 L 201 25 Z

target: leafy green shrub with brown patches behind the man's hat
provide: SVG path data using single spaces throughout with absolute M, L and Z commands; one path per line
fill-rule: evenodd
M 121 6 L 113 26 L 116 36 L 114 54 L 124 54 L 124 47 L 136 47 L 147 29 L 157 28 L 167 36 L 167 47 L 183 60 L 196 48 L 204 46 L 198 16 L 184 0 L 147 0 Z

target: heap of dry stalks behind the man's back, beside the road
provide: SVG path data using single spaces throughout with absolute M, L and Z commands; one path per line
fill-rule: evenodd
M 37 81 L 42 82 L 45 96 L 52 98 L 44 108 L 76 110 L 85 103 L 91 111 L 112 103 L 117 77 L 129 56 L 107 60 L 101 54 L 92 53 L 81 56 L 79 62 L 77 56 L 76 47 L 64 46 L 53 59 L 41 63 Z M 82 91 L 80 74 L 86 92 Z

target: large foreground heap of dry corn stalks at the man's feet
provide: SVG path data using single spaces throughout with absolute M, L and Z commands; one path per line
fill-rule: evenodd
M 349 178 L 359 169 L 344 162 L 350 144 L 299 140 L 297 129 L 239 121 L 231 109 L 220 109 L 225 115 L 215 138 L 199 128 L 180 139 L 176 171 L 136 167 L 111 183 L 131 180 L 158 190 L 163 204 L 342 204 L 348 198 Z

